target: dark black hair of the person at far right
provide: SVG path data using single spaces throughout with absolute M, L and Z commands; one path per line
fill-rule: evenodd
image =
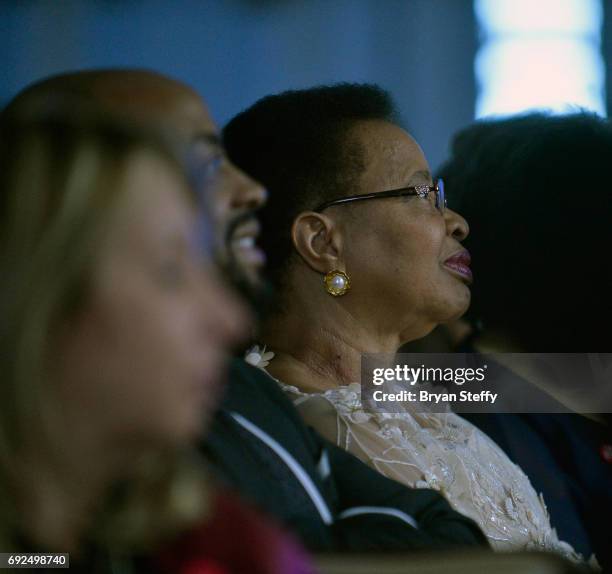
M 468 317 L 529 352 L 610 351 L 610 124 L 589 113 L 479 122 L 455 136 L 439 175 L 471 228 Z

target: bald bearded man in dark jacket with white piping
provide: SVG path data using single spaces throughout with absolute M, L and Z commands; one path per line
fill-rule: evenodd
M 265 191 L 226 158 L 192 89 L 150 71 L 76 72 L 27 88 L 3 113 L 19 113 L 38 98 L 78 100 L 171 133 L 217 225 L 216 237 L 203 240 L 216 242 L 219 264 L 257 299 L 264 254 L 255 243 L 255 211 Z M 478 527 L 437 492 L 388 480 L 307 428 L 263 371 L 236 359 L 229 379 L 202 451 L 223 483 L 275 516 L 311 550 L 486 546 Z

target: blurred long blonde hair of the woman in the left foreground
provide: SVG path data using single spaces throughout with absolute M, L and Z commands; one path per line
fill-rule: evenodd
M 78 117 L 78 121 L 68 117 Z M 83 113 L 4 119 L 0 126 L 0 547 L 17 543 L 15 461 L 31 445 L 61 449 L 61 405 L 49 384 L 53 334 L 88 295 L 102 228 L 139 150 L 182 174 L 172 146 Z M 187 184 L 186 184 L 187 185 Z M 143 455 L 116 485 L 92 536 L 123 552 L 200 519 L 203 472 L 190 450 Z

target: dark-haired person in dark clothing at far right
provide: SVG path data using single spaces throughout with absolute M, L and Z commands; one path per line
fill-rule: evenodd
M 439 174 L 470 220 L 477 278 L 466 316 L 474 332 L 460 350 L 611 352 L 611 154 L 610 123 L 588 113 L 482 121 L 455 135 Z M 567 412 L 464 416 L 543 493 L 559 535 L 612 568 L 612 382 L 574 381 L 574 396 L 605 411 L 582 416 L 554 380 L 512 361 L 503 368 L 509 384 L 540 387 Z

